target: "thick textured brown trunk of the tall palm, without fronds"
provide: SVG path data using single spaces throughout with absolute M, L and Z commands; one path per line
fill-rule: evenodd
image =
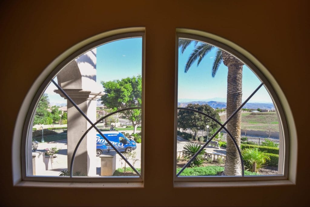
M 231 55 L 230 55 L 231 56 Z M 232 56 L 233 57 L 233 56 Z M 234 58 L 234 57 L 233 57 Z M 234 60 L 235 59 L 235 60 Z M 227 118 L 237 110 L 242 103 L 242 65 L 236 58 L 230 58 L 232 63 L 227 63 L 228 77 L 227 77 Z M 236 61 L 237 60 L 237 61 Z M 224 57 L 223 57 L 223 62 Z M 225 65 L 226 65 L 225 64 Z M 242 65 L 241 65 L 242 64 Z M 235 138 L 239 148 L 241 144 L 241 111 L 239 111 L 227 124 L 227 129 Z M 229 135 L 227 135 L 227 149 L 224 174 L 228 176 L 241 175 L 241 161 L 236 149 Z

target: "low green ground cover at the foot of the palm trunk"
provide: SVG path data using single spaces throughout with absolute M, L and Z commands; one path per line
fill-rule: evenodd
M 181 168 L 177 168 L 177 173 Z M 206 167 L 194 167 L 186 168 L 180 174 L 180 176 L 216 176 L 217 173 L 224 171 L 224 167 L 221 166 L 206 166 Z M 244 171 L 244 175 L 259 175 L 258 173 L 252 173 L 249 171 Z

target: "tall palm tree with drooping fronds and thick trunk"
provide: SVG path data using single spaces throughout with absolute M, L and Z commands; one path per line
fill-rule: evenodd
M 210 51 L 215 49 L 215 58 L 211 68 L 212 77 L 215 77 L 219 65 L 223 62 L 228 67 L 227 75 L 227 117 L 230 117 L 232 113 L 238 109 L 242 103 L 242 67 L 243 63 L 236 57 L 232 56 L 228 52 L 214 47 L 213 45 L 201 43 L 189 39 L 179 39 L 179 47 L 181 53 L 191 44 L 194 43 L 194 49 L 186 62 L 184 72 L 186 73 L 189 68 L 197 61 L 197 66 L 201 60 Z M 241 144 L 241 111 L 239 111 L 227 124 L 227 129 L 230 131 L 232 136 L 236 139 L 236 142 L 240 148 Z M 228 136 L 228 135 L 227 135 Z M 225 175 L 241 175 L 241 161 L 236 149 L 236 146 L 232 140 L 227 137 L 227 150 L 225 160 Z

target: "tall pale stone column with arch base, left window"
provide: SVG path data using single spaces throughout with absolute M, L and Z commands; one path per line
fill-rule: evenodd
M 96 101 L 104 93 L 96 83 L 96 50 L 86 52 L 69 63 L 57 75 L 57 81 L 64 92 L 75 102 L 84 114 L 93 122 L 96 121 Z M 54 92 L 65 96 L 59 91 Z M 91 126 L 68 100 L 68 170 L 73 151 L 86 130 Z M 87 176 L 96 175 L 96 130 L 92 129 L 80 144 L 75 155 L 73 173 L 81 172 Z

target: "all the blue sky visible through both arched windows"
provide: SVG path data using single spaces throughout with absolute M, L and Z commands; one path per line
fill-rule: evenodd
M 178 101 L 210 100 L 226 102 L 227 72 L 221 64 L 215 78 L 211 76 L 214 51 L 205 56 L 197 67 L 192 65 L 187 73 L 184 66 L 194 45 L 190 45 L 183 54 L 179 52 Z M 142 73 L 142 39 L 129 38 L 114 41 L 97 47 L 97 82 L 137 76 Z M 261 83 L 256 75 L 243 66 L 243 100 L 245 100 Z M 57 81 L 56 81 L 57 82 Z M 66 103 L 66 100 L 55 94 L 54 85 L 46 93 L 51 103 Z M 268 92 L 262 87 L 249 102 L 272 102 Z

